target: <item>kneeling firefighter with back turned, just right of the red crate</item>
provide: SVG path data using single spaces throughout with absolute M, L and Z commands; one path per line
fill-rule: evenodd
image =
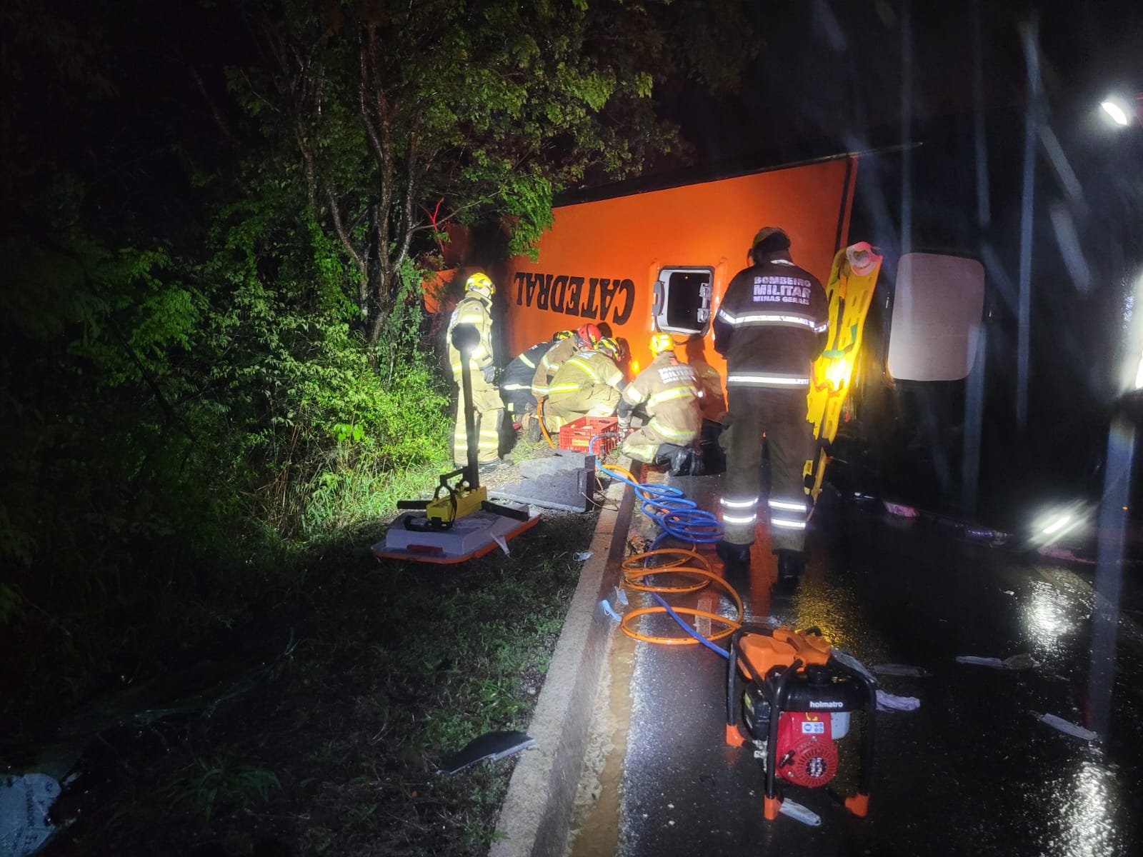
M 668 334 L 650 338 L 650 365 L 623 391 L 620 400 L 620 431 L 631 427 L 636 408 L 647 415 L 642 427 L 629 434 L 621 451 L 637 462 L 669 464 L 671 475 L 701 472 L 696 467 L 695 443 L 702 425 L 698 376 L 674 355 Z

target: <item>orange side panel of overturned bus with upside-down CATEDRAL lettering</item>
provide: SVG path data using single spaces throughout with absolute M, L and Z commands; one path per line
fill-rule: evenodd
M 557 330 L 607 322 L 613 336 L 628 341 L 625 368 L 633 377 L 650 361 L 658 270 L 713 267 L 713 312 L 730 278 L 748 265 L 762 226 L 785 230 L 794 262 L 824 285 L 847 240 L 855 176 L 856 157 L 846 155 L 553 209 L 537 261 L 517 256 L 496 277 L 506 305 L 503 362 Z M 710 333 L 679 355 L 705 360 L 726 376 Z

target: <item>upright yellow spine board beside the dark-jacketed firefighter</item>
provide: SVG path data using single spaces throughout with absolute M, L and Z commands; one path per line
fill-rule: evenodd
M 850 266 L 850 254 L 854 251 L 868 254 L 862 257 L 866 263 L 862 266 L 868 266 L 868 270 L 861 274 Z M 806 418 L 813 423 L 814 438 L 818 440 L 832 442 L 837 436 L 841 408 L 849 395 L 849 379 L 861 353 L 865 314 L 873 301 L 880 271 L 881 257 L 865 243 L 839 250 L 833 257 L 830 282 L 825 287 L 830 302 L 830 338 L 825 352 L 814 362 L 809 393 L 806 395 Z M 816 502 L 830 459 L 820 447 L 815 455 L 816 458 L 806 462 L 804 473 L 814 478 L 814 487 L 808 490 Z

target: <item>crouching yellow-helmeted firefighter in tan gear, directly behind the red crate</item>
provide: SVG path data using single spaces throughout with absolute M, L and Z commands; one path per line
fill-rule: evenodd
M 604 337 L 593 349 L 581 349 L 552 378 L 543 403 L 544 425 L 549 432 L 580 417 L 609 417 L 623 392 L 623 371 L 616 365 L 623 350 L 612 337 Z

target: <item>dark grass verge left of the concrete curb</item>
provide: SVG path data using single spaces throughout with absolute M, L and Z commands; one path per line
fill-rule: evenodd
M 491 842 L 514 759 L 447 777 L 440 758 L 527 729 L 593 515 L 546 518 L 459 567 L 378 562 L 378 532 L 306 570 L 296 646 L 257 690 L 210 718 L 117 747 L 129 771 L 49 855 L 475 855 Z M 112 820 L 105 820 L 112 819 Z M 282 851 L 283 854 L 286 851 Z

